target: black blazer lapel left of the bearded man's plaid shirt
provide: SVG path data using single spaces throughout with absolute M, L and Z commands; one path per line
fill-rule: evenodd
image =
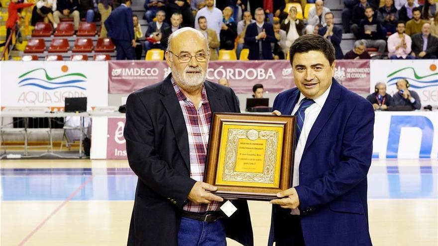
M 178 98 L 176 97 L 175 90 L 170 81 L 172 74 L 169 74 L 163 81 L 160 93 L 163 95 L 161 102 L 166 108 L 170 121 L 172 122 L 173 131 L 175 134 L 178 149 L 187 169 L 190 172 L 190 157 L 189 157 L 189 136 L 187 134 L 186 122 L 184 121 L 183 112 L 179 106 Z

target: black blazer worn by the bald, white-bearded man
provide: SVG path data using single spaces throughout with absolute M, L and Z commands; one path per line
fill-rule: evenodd
M 196 182 L 190 178 L 188 134 L 170 78 L 131 93 L 126 101 L 126 151 L 138 176 L 128 246 L 176 246 L 182 208 Z M 239 112 L 230 88 L 204 85 L 212 113 Z M 252 246 L 248 205 L 233 204 L 238 209 L 225 221 L 227 237 Z

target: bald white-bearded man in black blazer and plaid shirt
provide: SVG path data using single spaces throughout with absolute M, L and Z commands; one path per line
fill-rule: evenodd
M 190 27 L 169 37 L 171 74 L 130 94 L 124 138 L 129 165 L 138 176 L 128 245 L 226 245 L 230 237 L 253 245 L 246 201 L 227 218 L 217 187 L 204 183 L 214 112 L 239 112 L 234 92 L 206 81 L 205 36 Z

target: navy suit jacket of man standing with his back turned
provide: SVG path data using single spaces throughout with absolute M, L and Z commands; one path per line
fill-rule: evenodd
M 131 41 L 134 39 L 134 23 L 130 7 L 120 5 L 112 10 L 105 21 L 108 36 L 119 41 Z

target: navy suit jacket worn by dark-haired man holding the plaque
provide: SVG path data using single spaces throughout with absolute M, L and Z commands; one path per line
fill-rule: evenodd
M 281 92 L 272 109 L 290 115 L 299 97 L 298 88 Z M 366 175 L 371 165 L 373 127 L 371 103 L 333 79 L 307 138 L 299 166 L 300 183 L 295 187 L 306 246 L 371 245 Z M 282 208 L 273 210 L 271 233 L 275 234 L 275 228 L 288 225 L 279 224 L 284 220 L 276 211 Z

